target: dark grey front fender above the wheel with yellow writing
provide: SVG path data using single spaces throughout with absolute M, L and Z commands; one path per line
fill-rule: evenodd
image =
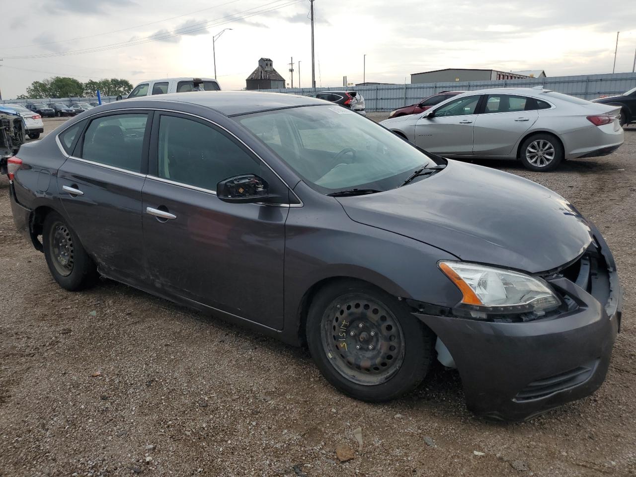
M 301 182 L 294 190 L 304 207 L 286 222 L 284 339 L 299 336 L 306 294 L 323 280 L 350 277 L 397 297 L 452 307 L 459 289 L 438 269 L 452 254 L 417 240 L 352 221 L 335 198 Z

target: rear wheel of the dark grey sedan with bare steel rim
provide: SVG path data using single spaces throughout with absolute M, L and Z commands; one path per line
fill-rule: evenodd
M 77 234 L 57 212 L 48 214 L 42 228 L 46 265 L 56 282 L 70 291 L 95 283 L 97 268 Z

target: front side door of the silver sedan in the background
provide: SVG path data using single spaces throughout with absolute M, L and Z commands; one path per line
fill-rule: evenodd
M 432 110 L 415 123 L 415 144 L 432 153 L 473 154 L 473 125 L 480 95 L 459 97 Z

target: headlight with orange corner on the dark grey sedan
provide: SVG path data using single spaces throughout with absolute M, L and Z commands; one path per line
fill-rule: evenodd
M 546 282 L 525 273 L 458 261 L 441 261 L 439 268 L 460 289 L 462 305 L 470 310 L 541 316 L 561 304 Z

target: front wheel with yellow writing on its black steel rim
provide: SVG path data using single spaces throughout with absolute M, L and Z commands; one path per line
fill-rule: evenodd
M 322 288 L 306 329 L 309 351 L 328 382 L 371 403 L 415 389 L 434 357 L 432 331 L 404 303 L 359 280 Z

